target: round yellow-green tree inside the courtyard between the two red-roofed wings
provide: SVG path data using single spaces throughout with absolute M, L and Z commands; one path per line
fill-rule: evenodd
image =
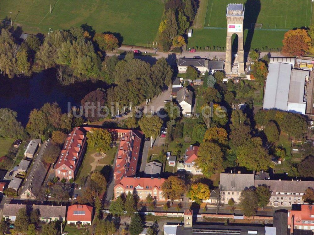
M 110 148 L 111 134 L 106 129 L 93 128 L 87 132 L 87 143 L 97 152 L 104 152 Z

